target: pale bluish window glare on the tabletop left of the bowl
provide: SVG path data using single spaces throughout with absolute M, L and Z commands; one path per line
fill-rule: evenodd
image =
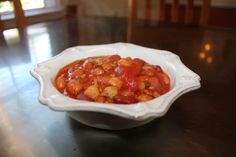
M 40 125 L 39 121 L 44 121 L 43 115 L 37 116 L 34 121 L 35 113 L 45 113 L 46 108 L 37 108 L 39 88 L 38 82 L 30 75 L 30 69 L 37 63 L 48 60 L 52 57 L 52 46 L 50 33 L 46 25 L 29 26 L 23 31 L 18 29 L 9 29 L 3 32 L 3 42 L 0 42 L 0 132 L 4 143 L 1 151 L 9 152 L 6 156 L 35 156 L 32 140 L 43 141 L 43 150 L 51 148 L 51 144 L 43 138 L 29 137 L 25 130 L 32 130 L 34 127 L 20 128 L 21 123 L 31 123 L 31 125 Z M 51 112 L 50 110 L 46 110 Z M 26 112 L 32 113 L 28 114 Z M 54 115 L 55 116 L 55 115 Z M 57 114 L 62 117 L 61 114 Z M 41 117 L 41 118 L 40 118 Z M 64 118 L 64 117 L 62 117 Z M 14 121 L 17 119 L 17 123 Z M 55 123 L 55 121 L 48 121 Z M 50 125 L 50 124 L 48 124 Z M 16 130 L 16 128 L 18 128 Z M 37 136 L 43 136 L 44 131 L 35 133 Z M 30 132 L 30 131 L 29 131 Z M 26 142 L 27 141 L 27 142 Z M 7 151 L 6 151 L 7 150 Z M 21 151 L 22 150 L 22 151 Z M 16 153 L 21 152 L 21 153 Z M 46 151 L 42 151 L 45 152 Z M 56 155 L 53 148 L 50 152 Z

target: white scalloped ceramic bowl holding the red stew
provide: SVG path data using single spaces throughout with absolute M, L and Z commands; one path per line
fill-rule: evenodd
M 86 57 L 111 54 L 141 58 L 160 65 L 171 79 L 171 90 L 151 101 L 119 105 L 72 99 L 54 87 L 52 81 L 64 65 Z M 188 69 L 177 55 L 127 43 L 68 48 L 50 60 L 35 65 L 30 72 L 41 85 L 39 101 L 42 104 L 56 111 L 67 111 L 79 122 L 102 129 L 125 129 L 145 124 L 163 116 L 178 97 L 201 86 L 200 77 Z

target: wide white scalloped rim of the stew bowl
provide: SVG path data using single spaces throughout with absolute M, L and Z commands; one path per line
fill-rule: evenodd
M 150 58 L 152 58 L 152 60 L 155 60 L 154 57 L 161 58 L 163 61 L 163 65 L 166 65 L 167 68 L 167 71 L 166 69 L 164 70 L 168 73 L 169 68 L 170 72 L 172 73 L 171 90 L 166 94 L 151 101 L 129 105 L 104 104 L 76 100 L 64 96 L 56 90 L 52 83 L 52 80 L 59 68 L 70 63 L 73 60 L 82 59 L 89 56 L 91 57 L 94 55 L 99 56 L 103 54 L 103 51 L 107 51 L 107 53 L 105 53 L 104 55 L 119 54 L 122 57 L 137 57 L 137 54 L 129 53 L 128 55 L 126 55 L 124 53 L 121 53 L 121 51 L 136 51 L 138 54 L 143 53 L 142 55 L 144 55 L 144 57 L 147 57 L 147 60 L 144 59 L 147 62 L 149 62 Z M 147 56 L 147 54 L 149 54 L 150 57 L 149 55 Z M 68 57 L 69 59 L 66 60 Z M 141 59 L 143 58 L 141 57 Z M 158 64 L 158 62 L 156 64 Z M 52 57 L 51 59 L 35 65 L 30 70 L 30 73 L 40 83 L 40 93 L 38 97 L 39 101 L 42 104 L 48 105 L 48 107 L 53 110 L 102 112 L 140 121 L 148 118 L 163 116 L 177 98 L 189 91 L 198 89 L 201 86 L 200 77 L 196 73 L 192 72 L 189 68 L 187 68 L 181 62 L 179 56 L 175 55 L 174 53 L 164 50 L 146 48 L 129 43 L 71 47 Z M 168 75 L 170 74 L 168 73 Z

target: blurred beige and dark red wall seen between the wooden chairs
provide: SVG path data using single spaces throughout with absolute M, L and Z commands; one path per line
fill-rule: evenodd
M 167 0 L 167 3 L 172 0 Z M 138 0 L 138 18 L 144 17 L 144 0 Z M 181 4 L 186 0 L 180 0 Z M 202 0 L 195 0 L 201 4 Z M 128 0 L 79 0 L 73 4 L 78 5 L 80 16 L 120 16 L 128 15 Z M 200 10 L 198 9 L 199 14 Z M 157 0 L 152 0 L 151 19 L 157 19 Z M 236 27 L 236 0 L 212 0 L 209 25 L 219 27 Z

